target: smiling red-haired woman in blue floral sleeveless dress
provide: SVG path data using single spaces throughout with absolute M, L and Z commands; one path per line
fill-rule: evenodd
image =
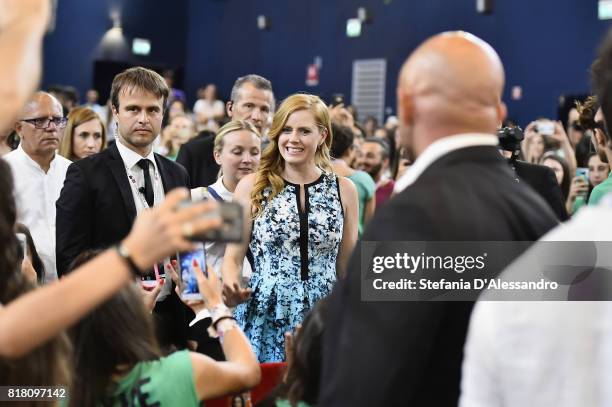
M 229 245 L 222 267 L 226 298 L 244 301 L 235 317 L 260 362 L 284 360 L 284 333 L 331 292 L 358 225 L 355 186 L 331 171 L 331 122 L 321 99 L 288 97 L 269 138 L 258 172 L 243 178 L 234 193 L 252 219 L 246 222 L 250 241 Z M 248 288 L 240 288 L 247 247 L 254 270 Z

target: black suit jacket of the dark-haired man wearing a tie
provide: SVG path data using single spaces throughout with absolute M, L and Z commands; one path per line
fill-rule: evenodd
M 164 191 L 189 185 L 185 169 L 155 154 Z M 129 233 L 136 204 L 116 145 L 68 167 L 56 203 L 56 255 L 59 276 L 87 249 L 105 248 Z

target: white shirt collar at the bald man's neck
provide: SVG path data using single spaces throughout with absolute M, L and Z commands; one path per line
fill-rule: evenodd
M 412 185 L 425 170 L 442 156 L 465 147 L 496 146 L 498 138 L 487 133 L 464 133 L 443 137 L 431 143 L 419 155 L 414 164 L 395 183 L 395 193 L 400 193 Z

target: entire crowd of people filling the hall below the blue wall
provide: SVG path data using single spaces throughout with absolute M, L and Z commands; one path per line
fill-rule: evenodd
M 190 109 L 171 72 L 132 67 L 106 105 L 93 89 L 81 105 L 69 86 L 36 90 L 48 2 L 0 10 L 14 62 L 0 67 L 1 385 L 64 386 L 70 406 L 196 406 L 282 362 L 261 405 L 612 402 L 605 304 L 362 301 L 359 244 L 588 240 L 585 225 L 610 222 L 612 37 L 593 95 L 523 132 L 496 51 L 436 35 L 379 126 L 317 95 L 277 101 L 258 74 L 225 103 L 202 87 Z M 242 239 L 202 241 L 201 299 L 184 297 L 177 253 L 226 227 L 228 202 Z M 604 362 L 585 362 L 595 351 L 563 337 L 572 326 Z M 555 366 L 554 353 L 574 357 Z

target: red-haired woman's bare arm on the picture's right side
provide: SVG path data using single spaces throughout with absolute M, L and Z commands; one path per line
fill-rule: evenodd
M 344 208 L 344 228 L 342 242 L 336 260 L 336 273 L 339 277 L 346 275 L 346 268 L 355 244 L 359 230 L 359 201 L 357 188 L 345 177 L 338 177 L 340 182 L 340 199 Z

